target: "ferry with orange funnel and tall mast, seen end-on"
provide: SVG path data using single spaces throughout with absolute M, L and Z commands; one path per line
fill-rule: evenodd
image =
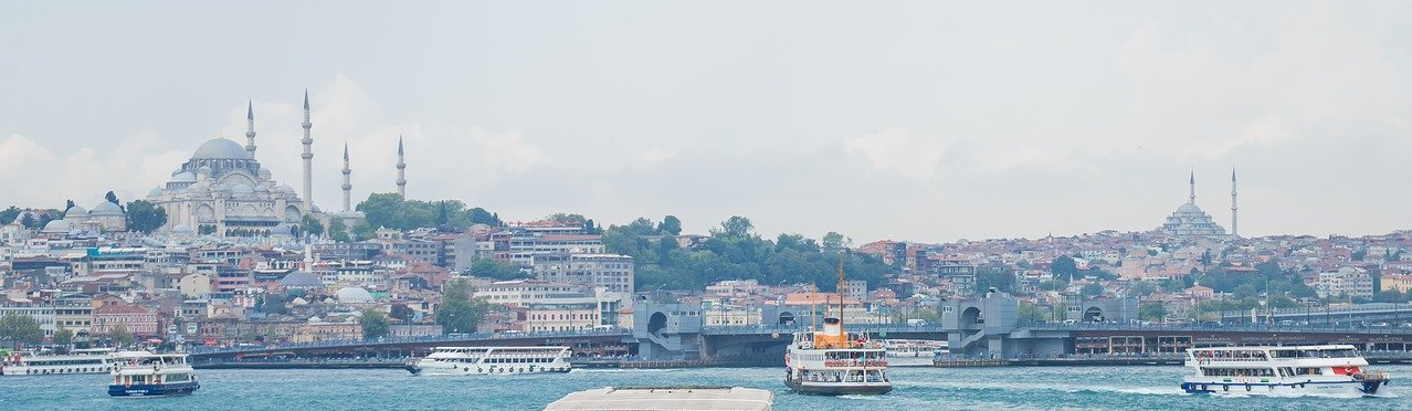
M 839 254 L 839 290 L 843 290 L 843 254 Z M 785 352 L 785 386 L 805 394 L 887 394 L 887 349 L 866 335 L 843 329 L 843 298 L 839 315 L 832 306 L 823 330 L 796 332 Z

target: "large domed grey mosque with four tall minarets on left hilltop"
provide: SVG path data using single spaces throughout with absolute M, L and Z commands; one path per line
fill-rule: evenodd
M 278 184 L 270 169 L 256 160 L 254 105 L 246 109 L 246 145 L 226 138 L 209 140 L 172 172 L 165 185 L 154 188 L 147 201 L 167 210 L 167 223 L 160 232 L 169 234 L 199 234 L 217 237 L 274 237 L 298 236 L 304 216 L 311 215 L 328 226 L 332 219 L 356 220 L 363 213 L 352 208 L 347 143 L 343 144 L 343 208 L 325 213 L 313 205 L 313 138 L 309 134 L 309 93 L 304 93 L 304 185 L 302 193 Z M 402 169 L 402 141 L 397 141 L 397 191 L 405 195 L 407 179 Z

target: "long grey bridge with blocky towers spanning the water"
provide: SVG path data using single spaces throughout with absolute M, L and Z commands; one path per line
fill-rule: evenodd
M 1084 302 L 1069 309 L 1084 321 L 1022 322 L 1018 301 L 1008 295 L 947 301 L 940 323 L 849 323 L 850 332 L 874 339 L 947 340 L 960 356 L 1019 359 L 1069 355 L 1162 355 L 1193 346 L 1320 345 L 1347 343 L 1364 350 L 1412 352 L 1412 326 L 1346 318 L 1412 319 L 1408 305 L 1370 305 L 1327 311 L 1322 322 L 1284 321 L 1305 311 L 1275 311 L 1262 323 L 1204 322 L 1186 325 L 1144 323 L 1127 314 L 1124 302 Z M 323 340 L 246 347 L 196 347 L 193 362 L 219 363 L 247 359 L 400 359 L 421 356 L 436 346 L 569 346 L 576 356 L 633 357 L 657 362 L 754 363 L 781 362 L 792 333 L 809 330 L 798 311 L 774 308 L 760 325 L 706 326 L 699 305 L 652 304 L 638 306 L 631 329 L 593 329 L 532 333 L 470 333 L 457 336 L 381 338 L 374 340 Z M 1405 311 L 1405 312 L 1404 312 Z M 1110 314 L 1110 315 L 1104 315 Z M 806 314 L 805 314 L 806 315 Z M 1115 319 L 1111 316 L 1117 316 Z M 1341 321 L 1334 321 L 1340 318 Z M 1093 322 L 1090 319 L 1106 319 Z M 798 321 L 798 322 L 796 322 Z

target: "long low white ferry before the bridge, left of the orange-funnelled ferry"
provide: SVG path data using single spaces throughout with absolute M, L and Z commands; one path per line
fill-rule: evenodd
M 573 369 L 565 346 L 549 347 L 436 347 L 412 359 L 407 370 L 421 376 L 568 373 Z

